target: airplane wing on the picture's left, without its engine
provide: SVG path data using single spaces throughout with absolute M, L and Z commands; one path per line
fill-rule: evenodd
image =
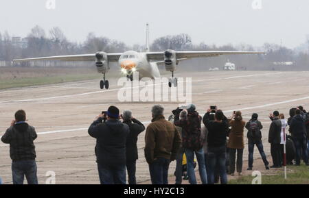
M 117 62 L 122 53 L 107 53 L 108 61 Z M 40 58 L 15 59 L 13 62 L 40 61 L 40 60 L 62 60 L 62 61 L 95 61 L 95 53 L 81 55 L 56 55 Z

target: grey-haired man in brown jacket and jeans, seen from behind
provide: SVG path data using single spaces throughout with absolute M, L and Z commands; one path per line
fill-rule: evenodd
M 144 151 L 152 184 L 168 184 L 168 167 L 176 159 L 181 145 L 179 132 L 165 120 L 163 110 L 160 105 L 152 107 L 152 123 L 148 125 L 145 135 Z

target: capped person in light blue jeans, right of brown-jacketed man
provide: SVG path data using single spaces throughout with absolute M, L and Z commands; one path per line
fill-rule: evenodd
M 202 117 L 196 112 L 194 104 L 191 104 L 187 110 L 184 111 L 187 112 L 187 115 L 179 119 L 179 114 L 176 114 L 174 125 L 182 127 L 183 147 L 185 148 L 185 156 L 187 158 L 187 175 L 189 176 L 189 182 L 190 184 L 197 184 L 194 172 L 195 153 L 202 184 L 207 184 L 207 171 L 203 150 L 205 137 L 201 132 Z

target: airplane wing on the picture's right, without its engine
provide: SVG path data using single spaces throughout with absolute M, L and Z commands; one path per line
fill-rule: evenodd
M 218 55 L 232 55 L 232 54 L 256 54 L 265 53 L 264 51 L 175 51 L 176 58 L 205 58 Z M 163 60 L 164 51 L 148 52 L 146 53 L 149 60 Z

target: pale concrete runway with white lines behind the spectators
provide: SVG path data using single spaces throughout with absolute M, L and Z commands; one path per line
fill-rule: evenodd
M 279 110 L 287 119 L 290 108 L 299 105 L 309 108 L 308 72 L 220 71 L 179 73 L 176 77 L 192 77 L 192 101 L 202 116 L 211 105 L 224 110 L 227 116 L 233 110 L 241 110 L 245 121 L 257 112 L 264 125 L 262 134 L 267 156 L 270 155 L 268 114 Z M 117 99 L 120 88 L 116 86 L 117 79 L 109 79 L 110 90 L 99 90 L 99 80 L 0 90 L 0 136 L 19 109 L 27 112 L 28 123 L 36 127 L 39 184 L 45 184 L 47 171 L 56 173 L 56 184 L 99 184 L 95 139 L 88 135 L 87 128 L 108 106 L 115 105 L 121 111 L 133 110 L 133 116 L 146 125 L 151 120 L 150 109 L 155 102 L 121 103 Z M 161 104 L 166 118 L 178 106 L 175 102 Z M 137 182 L 150 179 L 144 158 L 144 134 L 138 140 Z M 4 184 L 12 184 L 8 145 L 0 143 L 0 153 L 0 177 Z M 246 144 L 244 160 L 247 155 Z M 254 158 L 260 158 L 256 148 Z M 175 162 L 172 162 L 171 175 L 174 168 Z M 247 169 L 246 163 L 243 169 Z

